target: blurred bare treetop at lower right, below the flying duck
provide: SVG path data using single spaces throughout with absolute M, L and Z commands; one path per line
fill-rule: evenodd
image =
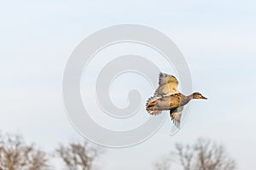
M 236 162 L 224 146 L 209 139 L 198 139 L 195 144 L 176 144 L 177 156 L 184 170 L 234 170 Z

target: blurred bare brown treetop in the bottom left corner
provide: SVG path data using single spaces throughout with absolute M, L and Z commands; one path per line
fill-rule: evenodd
M 0 170 L 46 170 L 48 158 L 17 134 L 0 133 Z

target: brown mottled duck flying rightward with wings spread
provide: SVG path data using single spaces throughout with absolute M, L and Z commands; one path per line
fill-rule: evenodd
M 177 91 L 177 84 L 176 77 L 160 73 L 159 87 L 155 90 L 154 96 L 148 99 L 146 110 L 150 115 L 170 111 L 173 123 L 179 127 L 183 105 L 188 104 L 191 99 L 207 98 L 198 92 L 185 96 Z

